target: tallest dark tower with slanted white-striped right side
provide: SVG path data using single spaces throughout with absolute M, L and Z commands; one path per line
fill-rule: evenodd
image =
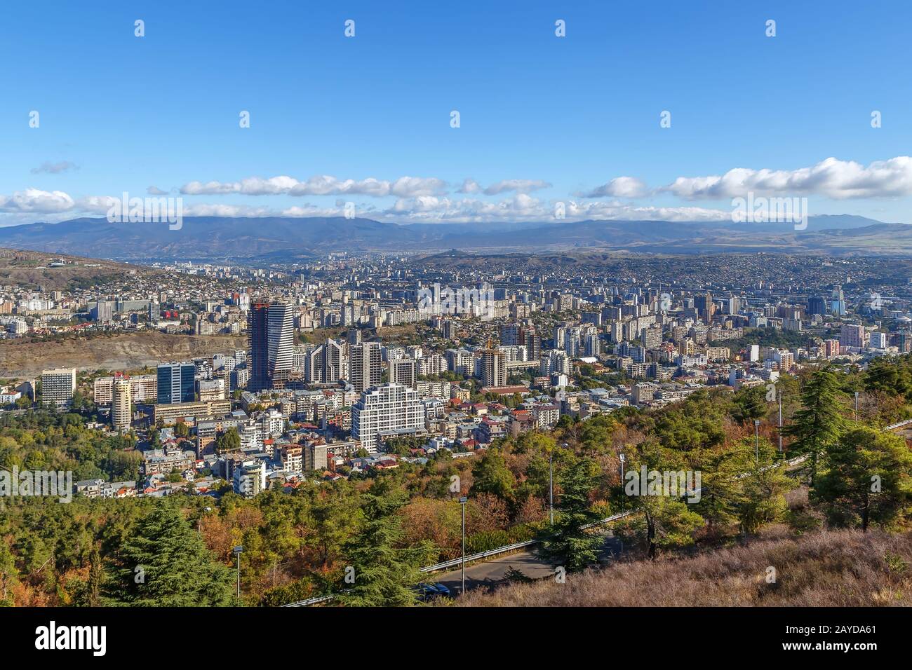
M 282 387 L 291 376 L 295 345 L 292 305 L 254 303 L 247 314 L 252 391 Z

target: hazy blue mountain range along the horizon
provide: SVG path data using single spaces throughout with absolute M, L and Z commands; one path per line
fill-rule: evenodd
M 0 245 L 118 260 L 281 261 L 330 252 L 456 253 L 595 249 L 642 253 L 912 253 L 912 226 L 851 215 L 790 224 L 584 221 L 406 224 L 343 217 L 187 217 L 165 223 L 73 219 L 0 228 Z

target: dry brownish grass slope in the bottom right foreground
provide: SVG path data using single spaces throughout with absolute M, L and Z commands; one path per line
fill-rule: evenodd
M 912 532 L 782 528 L 745 546 L 683 559 L 624 562 L 602 571 L 473 592 L 470 607 L 912 605 Z M 767 568 L 776 570 L 766 582 Z

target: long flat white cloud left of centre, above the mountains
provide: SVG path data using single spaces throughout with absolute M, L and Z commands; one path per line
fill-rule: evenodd
M 190 181 L 181 187 L 184 195 L 389 195 L 410 198 L 420 195 L 440 194 L 446 182 L 433 177 L 399 177 L 397 180 L 338 180 L 329 175 L 318 175 L 306 181 L 280 176 L 270 179 L 250 177 L 240 181 Z

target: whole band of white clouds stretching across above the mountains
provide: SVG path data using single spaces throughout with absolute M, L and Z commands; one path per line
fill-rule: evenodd
M 46 162 L 33 174 L 61 175 L 78 170 L 69 161 Z M 552 191 L 548 195 L 539 191 Z M 341 216 L 354 202 L 359 216 L 392 222 L 530 222 L 566 219 L 713 222 L 731 218 L 728 202 L 758 196 L 815 197 L 830 201 L 895 199 L 912 195 L 912 158 L 896 156 L 868 165 L 827 158 L 796 170 L 733 168 L 718 175 L 680 176 L 650 187 L 633 176 L 617 176 L 602 184 L 561 197 L 552 182 L 540 179 L 503 179 L 482 185 L 466 178 L 452 184 L 438 177 L 402 176 L 382 180 L 339 179 L 316 175 L 298 180 L 287 175 L 247 177 L 241 180 L 192 180 L 165 191 L 149 186 L 145 194 L 180 196 L 188 216 L 314 217 Z M 223 201 L 228 197 L 233 201 Z M 267 202 L 243 202 L 245 198 Z M 326 201 L 332 197 L 334 201 Z M 109 195 L 74 196 L 67 191 L 28 186 L 0 194 L 0 222 L 32 222 L 36 217 L 54 222 L 75 215 L 103 215 Z M 203 198 L 208 200 L 203 201 Z M 318 202 L 276 203 L 275 199 L 315 198 Z M 238 201 L 240 200 L 240 201 Z M 661 202 L 656 202 L 657 200 Z M 677 200 L 678 202 L 668 202 Z M 715 207 L 696 206 L 710 201 Z

